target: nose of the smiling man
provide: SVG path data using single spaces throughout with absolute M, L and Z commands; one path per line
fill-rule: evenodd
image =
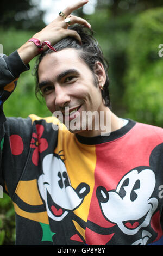
M 55 86 L 55 105 L 58 107 L 65 107 L 70 102 L 71 98 L 68 95 L 67 88 Z

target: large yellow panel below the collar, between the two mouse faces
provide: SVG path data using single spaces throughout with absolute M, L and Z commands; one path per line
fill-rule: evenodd
M 74 214 L 87 222 L 89 205 L 95 184 L 95 145 L 84 145 L 78 142 L 76 136 L 72 133 L 59 131 L 58 145 L 55 153 L 58 154 L 60 150 L 63 150 L 62 154 L 64 154 L 64 162 L 72 187 L 76 189 L 83 182 L 90 186 L 90 192 L 86 195 L 79 208 L 74 210 Z

